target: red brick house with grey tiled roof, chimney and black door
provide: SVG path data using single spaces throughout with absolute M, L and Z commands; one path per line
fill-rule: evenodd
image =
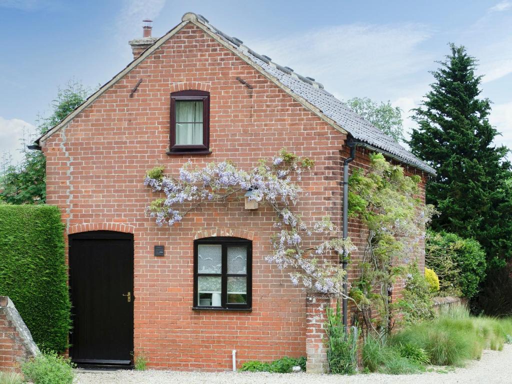
M 133 352 L 155 368 L 224 370 L 236 350 L 238 364 L 307 355 L 308 369 L 321 370 L 325 299 L 265 261 L 273 212 L 233 201 L 158 227 L 146 214 L 155 195 L 142 183 L 145 172 L 164 165 L 173 174 L 187 159 L 250 168 L 286 147 L 315 160 L 301 184 L 309 193 L 303 214 L 328 213 L 341 225 L 349 140 L 357 143 L 351 166 L 364 167 L 378 151 L 423 180 L 433 169 L 322 84 L 203 16 L 186 13 L 160 38 L 144 28 L 145 37 L 130 42 L 134 60 L 37 141 L 47 158 L 47 202 L 61 208 L 69 241 L 71 357 L 130 365 Z M 348 231 L 356 244 L 364 238 L 356 221 Z M 197 266 L 198 252 L 213 264 L 242 263 L 243 305 L 226 302 L 225 286 L 198 287 L 201 271 L 216 268 Z

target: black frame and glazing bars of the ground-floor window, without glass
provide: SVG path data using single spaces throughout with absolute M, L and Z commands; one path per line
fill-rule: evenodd
M 198 246 L 200 244 L 222 245 L 222 268 L 221 273 L 198 273 Z M 247 247 L 247 275 L 227 273 L 227 248 L 236 246 Z M 221 278 L 221 306 L 220 307 L 202 307 L 198 303 L 198 278 L 199 276 L 219 276 Z M 247 303 L 233 304 L 227 303 L 227 278 L 246 276 L 247 279 Z M 194 241 L 194 300 L 193 309 L 200 310 L 235 310 L 250 311 L 252 309 L 252 241 L 234 237 L 212 237 L 198 239 Z

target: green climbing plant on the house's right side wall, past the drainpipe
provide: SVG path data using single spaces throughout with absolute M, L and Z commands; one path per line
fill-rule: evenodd
M 350 177 L 349 214 L 368 229 L 361 274 L 351 289 L 366 329 L 391 331 L 396 310 L 390 302 L 393 285 L 406 273 L 404 265 L 415 261 L 435 212 L 419 198 L 420 181 L 381 154 L 370 154 L 370 167 L 357 169 Z M 372 316 L 373 311 L 379 316 Z

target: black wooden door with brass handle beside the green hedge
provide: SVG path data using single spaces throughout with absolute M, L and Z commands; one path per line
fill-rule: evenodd
M 110 231 L 74 234 L 69 255 L 72 360 L 77 364 L 131 364 L 132 235 Z

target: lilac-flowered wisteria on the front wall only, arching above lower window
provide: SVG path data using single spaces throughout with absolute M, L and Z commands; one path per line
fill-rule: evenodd
M 166 176 L 163 167 L 155 167 L 147 172 L 144 185 L 166 197 L 154 200 L 148 211 L 158 225 L 172 226 L 201 204 L 225 202 L 250 190 L 249 200 L 269 205 L 276 214 L 272 253 L 266 260 L 280 269 L 292 269 L 294 285 L 349 298 L 343 290 L 346 271 L 339 261 L 348 259 L 356 248 L 350 239 L 340 239 L 328 216 L 308 226 L 293 210 L 303 193 L 294 180 L 301 181 L 313 165 L 311 159 L 283 149 L 271 161 L 260 160 L 249 172 L 229 161 L 203 168 L 188 161 L 177 178 Z M 333 254 L 337 255 L 335 262 Z

